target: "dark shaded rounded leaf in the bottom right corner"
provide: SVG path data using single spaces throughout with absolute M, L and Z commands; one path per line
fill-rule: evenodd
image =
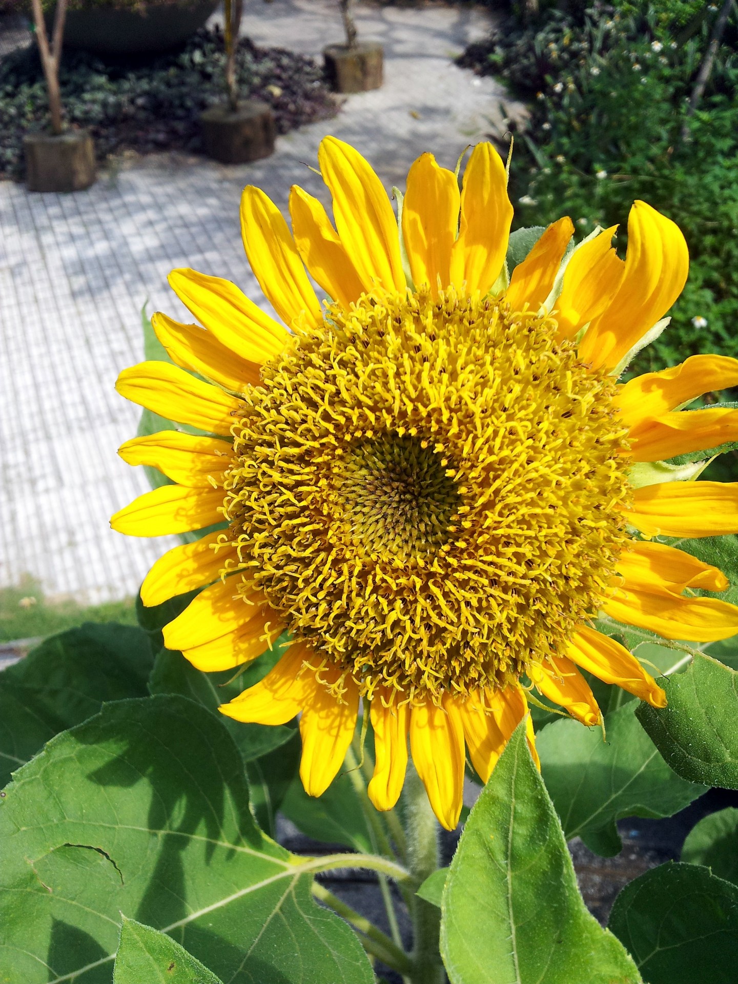
M 615 899 L 609 928 L 646 984 L 735 984 L 738 888 L 707 868 L 646 871 Z

